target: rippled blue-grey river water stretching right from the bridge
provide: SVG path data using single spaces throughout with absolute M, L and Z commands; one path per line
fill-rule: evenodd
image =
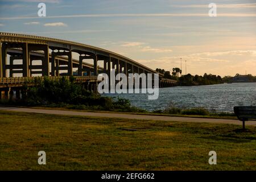
M 105 94 L 127 98 L 133 106 L 148 111 L 175 107 L 205 107 L 214 112 L 233 112 L 234 106 L 256 105 L 256 83 L 233 83 L 203 86 L 159 88 L 159 98 L 148 100 L 147 94 Z

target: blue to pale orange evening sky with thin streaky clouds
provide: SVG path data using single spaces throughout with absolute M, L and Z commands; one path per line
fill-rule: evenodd
M 0 0 L 0 31 L 85 43 L 152 69 L 182 58 L 183 73 L 186 63 L 192 75 L 256 75 L 256 0 Z

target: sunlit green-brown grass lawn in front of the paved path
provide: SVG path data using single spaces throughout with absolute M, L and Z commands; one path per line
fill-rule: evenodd
M 1 170 L 256 170 L 253 126 L 0 111 L 0 130 Z

